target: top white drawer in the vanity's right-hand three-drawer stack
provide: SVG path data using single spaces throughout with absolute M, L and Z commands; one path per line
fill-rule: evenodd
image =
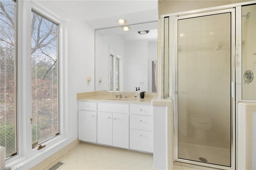
M 151 105 L 130 105 L 131 114 L 153 115 L 153 106 Z

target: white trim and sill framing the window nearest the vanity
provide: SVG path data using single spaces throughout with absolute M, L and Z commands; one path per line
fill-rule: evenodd
M 59 127 L 60 135 L 48 140 L 42 150 L 32 149 L 31 139 L 31 11 L 59 24 Z M 24 57 L 27 56 L 27 57 Z M 18 155 L 6 160 L 6 166 L 30 169 L 74 139 L 68 130 L 67 105 L 67 23 L 36 1 L 18 1 Z

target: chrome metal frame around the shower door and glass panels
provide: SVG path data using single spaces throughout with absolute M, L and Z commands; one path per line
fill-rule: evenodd
M 173 100 L 173 157 L 174 162 L 178 162 L 178 164 L 182 165 L 196 165 L 196 166 L 205 166 L 210 168 L 217 169 L 225 169 L 225 170 L 233 170 L 237 169 L 237 103 L 240 101 L 248 101 L 242 100 L 242 67 L 240 67 L 242 63 L 242 6 L 256 4 L 256 0 L 250 2 L 242 2 L 238 4 L 230 4 L 224 6 L 217 6 L 212 8 L 204 8 L 200 10 L 192 10 L 186 12 L 178 12 L 174 14 L 166 14 L 161 16 L 161 25 L 164 26 L 166 18 L 168 18 L 169 32 L 168 35 L 164 35 L 164 31 L 161 32 L 161 37 L 168 36 L 169 37 L 169 99 Z M 177 18 L 192 18 L 195 16 L 205 16 L 206 14 L 220 14 L 223 12 L 231 12 L 231 167 L 227 166 L 219 166 L 214 164 L 207 164 L 203 162 L 196 162 L 192 160 L 184 160 L 178 158 L 178 117 L 177 117 L 177 95 L 178 95 L 178 86 L 177 86 L 177 78 L 178 78 L 178 67 L 177 67 L 177 54 L 178 54 L 178 43 L 177 43 Z M 163 29 L 163 27 L 162 27 Z M 162 39 L 163 40 L 163 39 Z M 161 51 L 163 56 L 164 42 L 161 40 Z M 166 53 L 166 52 L 165 52 Z M 164 63 L 166 64 L 166 63 Z M 239 65 L 240 64 L 240 65 Z M 253 102 L 250 100 L 250 102 Z

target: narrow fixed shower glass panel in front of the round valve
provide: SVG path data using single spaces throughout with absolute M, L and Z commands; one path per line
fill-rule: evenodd
M 256 100 L 256 5 L 242 6 L 242 99 Z

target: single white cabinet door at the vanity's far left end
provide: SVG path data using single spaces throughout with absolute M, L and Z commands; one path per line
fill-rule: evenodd
M 88 142 L 97 142 L 97 112 L 78 111 L 78 138 Z

